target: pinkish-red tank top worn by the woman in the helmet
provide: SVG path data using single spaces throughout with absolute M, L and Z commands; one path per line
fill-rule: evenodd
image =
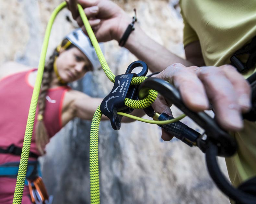
M 11 144 L 20 148 L 23 146 L 33 92 L 33 87 L 28 83 L 28 77 L 29 73 L 35 70 L 17 73 L 0 80 L 0 148 L 7 148 Z M 47 93 L 44 123 L 50 137 L 62 128 L 62 104 L 64 94 L 68 89 L 69 87 L 62 86 L 49 89 Z M 35 118 L 37 114 L 38 108 Z M 40 155 L 35 143 L 35 129 L 32 134 L 30 151 Z M 0 164 L 19 159 L 20 156 L 0 154 Z

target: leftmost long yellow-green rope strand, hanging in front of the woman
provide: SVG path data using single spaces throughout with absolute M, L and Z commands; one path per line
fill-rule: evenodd
M 66 2 L 63 2 L 52 12 L 51 18 L 50 18 L 49 23 L 46 28 L 44 42 L 43 42 L 42 51 L 41 51 L 41 56 L 40 56 L 39 65 L 38 65 L 38 73 L 37 73 L 36 82 L 35 82 L 35 86 L 33 89 L 33 94 L 32 94 L 31 103 L 30 103 L 30 107 L 29 107 L 29 116 L 28 116 L 27 126 L 26 126 L 26 130 L 25 130 L 25 136 L 24 136 L 24 142 L 23 142 L 23 147 L 22 147 L 22 152 L 21 152 L 17 182 L 16 182 L 14 197 L 13 197 L 13 204 L 20 204 L 21 200 L 22 200 L 24 183 L 25 183 L 26 172 L 27 172 L 27 167 L 28 167 L 29 149 L 30 149 L 33 127 L 34 127 L 34 120 L 35 120 L 35 115 L 36 115 L 36 107 L 37 107 L 38 96 L 39 96 L 42 77 L 43 77 L 45 56 L 46 56 L 46 51 L 47 51 L 47 47 L 48 47 L 49 36 L 51 33 L 52 24 L 53 24 L 55 16 L 65 6 L 66 6 Z

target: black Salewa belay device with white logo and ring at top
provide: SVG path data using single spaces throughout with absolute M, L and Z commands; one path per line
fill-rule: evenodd
M 136 67 L 142 67 L 139 74 L 132 73 Z M 118 111 L 131 113 L 134 110 L 133 108 L 129 108 L 124 105 L 125 98 L 134 100 L 138 99 L 137 85 L 130 86 L 132 78 L 141 76 L 145 77 L 147 71 L 147 64 L 138 60 L 128 66 L 125 74 L 117 75 L 115 77 L 115 83 L 111 92 L 103 99 L 100 105 L 100 111 L 110 119 L 113 129 L 119 130 L 121 127 L 122 116 L 117 115 Z

